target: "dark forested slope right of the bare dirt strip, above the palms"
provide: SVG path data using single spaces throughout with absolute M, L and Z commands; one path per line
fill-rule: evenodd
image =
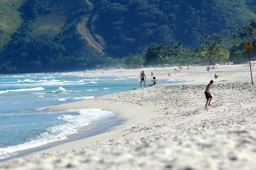
M 256 15 L 245 0 L 101 0 L 98 33 L 106 52 L 123 57 L 148 46 L 197 47 L 207 35 L 230 35 Z

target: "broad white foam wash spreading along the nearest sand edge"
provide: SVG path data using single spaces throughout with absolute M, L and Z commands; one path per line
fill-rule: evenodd
M 34 139 L 31 139 L 23 144 L 0 148 L 0 159 L 12 156 L 14 152 L 17 151 L 42 146 L 50 142 L 68 139 L 69 135 L 88 129 L 88 125 L 90 125 L 92 121 L 104 119 L 108 116 L 114 115 L 113 112 L 103 111 L 102 109 L 77 109 L 63 111 L 63 113 L 64 112 L 77 113 L 77 115 L 73 116 L 70 114 L 64 114 L 59 116 L 58 119 L 63 122 L 62 124 L 47 128 L 45 132 L 42 132 Z

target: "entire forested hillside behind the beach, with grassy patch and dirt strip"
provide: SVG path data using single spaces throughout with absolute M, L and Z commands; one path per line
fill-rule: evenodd
M 255 12 L 255 0 L 0 0 L 0 73 L 144 63 L 150 49 L 175 53 L 157 63 L 199 63 L 204 45 L 243 62 L 233 45 L 255 30 L 245 25 Z

